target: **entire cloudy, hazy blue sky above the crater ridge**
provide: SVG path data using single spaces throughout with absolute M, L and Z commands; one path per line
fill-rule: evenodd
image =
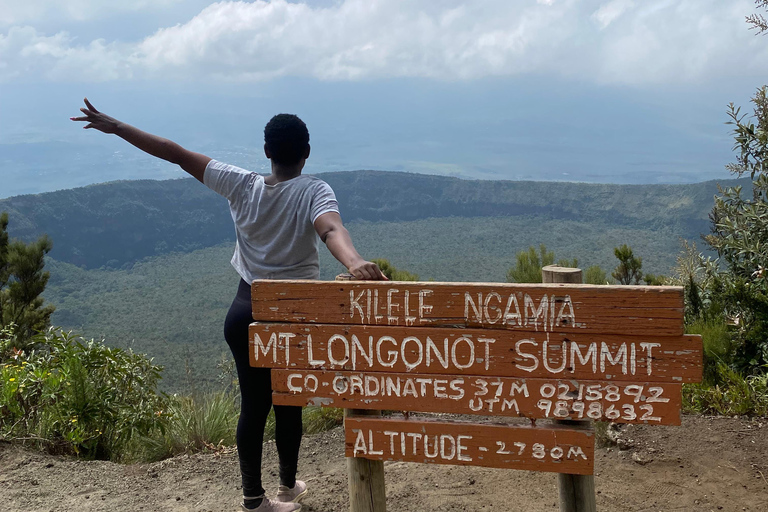
M 102 111 L 260 172 L 689 183 L 728 177 L 726 107 L 768 83 L 752 0 L 0 0 L 0 197 L 182 173 L 78 130 Z

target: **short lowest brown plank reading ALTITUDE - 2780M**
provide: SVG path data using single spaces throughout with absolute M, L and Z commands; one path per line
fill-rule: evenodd
M 348 417 L 347 457 L 592 474 L 594 436 L 564 427 Z

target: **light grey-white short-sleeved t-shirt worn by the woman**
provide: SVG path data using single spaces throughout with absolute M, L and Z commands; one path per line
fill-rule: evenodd
M 229 200 L 237 238 L 232 266 L 246 282 L 320 277 L 314 222 L 339 211 L 326 182 L 302 174 L 267 185 L 255 172 L 211 160 L 203 183 Z

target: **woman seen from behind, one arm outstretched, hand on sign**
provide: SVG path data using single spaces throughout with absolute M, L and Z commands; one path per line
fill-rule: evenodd
M 224 324 L 237 366 L 241 392 L 237 448 L 243 481 L 244 510 L 291 512 L 307 486 L 296 480 L 301 443 L 301 408 L 274 406 L 276 445 L 280 459 L 280 487 L 275 500 L 266 498 L 261 484 L 264 426 L 272 408 L 270 370 L 251 368 L 248 325 L 252 321 L 250 283 L 254 279 L 317 279 L 318 236 L 331 254 L 357 279 L 386 279 L 376 264 L 355 250 L 339 216 L 331 187 L 314 176 L 302 175 L 309 158 L 309 132 L 304 122 L 289 114 L 273 117 L 264 128 L 264 153 L 272 163 L 269 176 L 217 162 L 200 153 L 122 123 L 85 99 L 81 117 L 73 121 L 112 133 L 142 151 L 179 165 L 213 191 L 226 197 L 235 223 L 232 266 L 241 280 Z

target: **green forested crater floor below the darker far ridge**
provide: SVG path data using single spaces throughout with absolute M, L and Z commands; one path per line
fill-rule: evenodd
M 348 227 L 365 257 L 387 258 L 422 280 L 504 282 L 515 254 L 539 243 L 602 268 L 615 266 L 613 247 L 629 243 L 644 266 L 658 273 L 669 273 L 679 250 L 670 230 L 530 217 L 352 222 Z M 165 390 L 213 385 L 216 363 L 229 356 L 222 326 L 239 280 L 229 264 L 232 249 L 223 244 L 166 254 L 124 270 L 85 270 L 50 260 L 45 296 L 57 306 L 53 323 L 151 355 L 166 368 Z M 325 248 L 320 255 L 321 279 L 344 271 Z

